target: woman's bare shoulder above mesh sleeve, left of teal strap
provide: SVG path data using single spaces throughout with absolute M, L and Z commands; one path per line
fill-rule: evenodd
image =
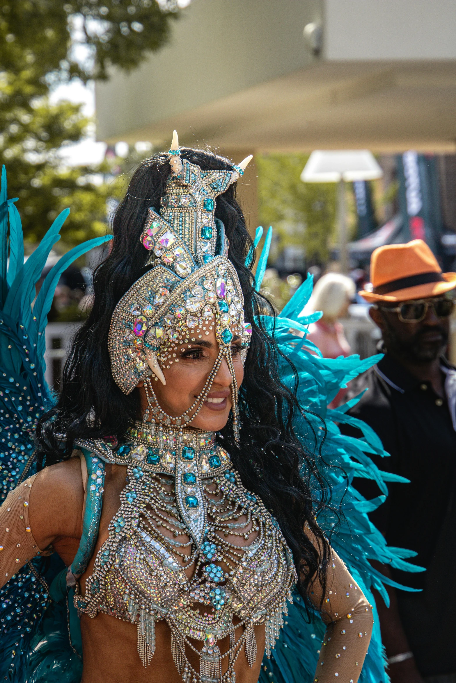
M 41 548 L 57 536 L 81 536 L 83 503 L 80 458 L 57 462 L 38 472 L 30 491 L 29 520 Z

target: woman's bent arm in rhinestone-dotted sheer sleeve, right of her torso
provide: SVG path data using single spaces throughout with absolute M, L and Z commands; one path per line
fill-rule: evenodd
M 308 529 L 306 533 L 310 536 Z M 318 547 L 314 538 L 312 542 Z M 319 581 L 310 590 L 317 609 L 323 596 L 321 616 L 327 624 L 314 681 L 356 683 L 371 641 L 372 608 L 340 557 L 332 548 L 330 553 L 325 596 Z

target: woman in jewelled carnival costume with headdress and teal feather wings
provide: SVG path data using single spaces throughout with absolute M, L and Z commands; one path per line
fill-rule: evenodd
M 333 420 L 353 419 L 325 407 L 377 358 L 306 350 L 310 281 L 275 320 L 258 294 L 267 247 L 255 279 L 235 199 L 248 161 L 179 150 L 175 133 L 137 169 L 58 400 L 43 374 L 53 290 L 109 238 L 62 257 L 32 310 L 64 215 L 23 264 L 3 179 L 5 680 L 386 680 L 368 558 L 405 568 L 412 553 L 368 522 L 384 497 L 349 486 L 356 472 L 386 492 L 366 456 L 378 438 L 340 436 Z

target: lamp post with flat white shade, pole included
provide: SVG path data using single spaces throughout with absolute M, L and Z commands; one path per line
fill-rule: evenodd
M 302 182 L 336 182 L 337 218 L 339 228 L 340 270 L 347 273 L 347 212 L 345 210 L 345 182 L 353 180 L 376 180 L 383 171 L 368 150 L 315 150 L 301 173 Z

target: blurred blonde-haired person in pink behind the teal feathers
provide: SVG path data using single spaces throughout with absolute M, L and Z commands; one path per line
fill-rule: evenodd
M 323 311 L 323 316 L 309 325 L 307 338 L 321 350 L 325 358 L 351 354 L 343 326 L 338 319 L 347 316 L 354 294 L 355 283 L 351 277 L 341 273 L 326 273 L 314 286 L 305 312 Z M 340 389 L 328 407 L 336 408 L 340 405 L 346 392 L 347 389 Z

